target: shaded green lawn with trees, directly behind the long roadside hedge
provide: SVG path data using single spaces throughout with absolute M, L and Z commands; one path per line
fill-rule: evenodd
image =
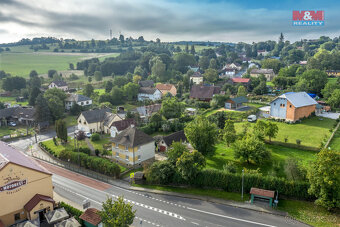
M 270 144 L 266 144 L 266 147 L 271 153 L 271 162 L 264 163 L 262 166 L 257 166 L 236 160 L 234 158 L 233 149 L 227 147 L 224 143 L 219 143 L 216 145 L 215 153 L 207 157 L 206 168 L 223 169 L 223 165 L 225 165 L 227 161 L 233 161 L 237 165 L 239 172 L 241 172 L 244 167 L 247 169 L 260 168 L 260 171 L 263 174 L 270 174 L 275 169 L 275 174 L 277 176 L 285 177 L 283 166 L 286 159 L 292 157 L 301 160 L 303 166 L 307 167 L 308 163 L 316 158 L 316 152 L 313 151 L 299 150 Z

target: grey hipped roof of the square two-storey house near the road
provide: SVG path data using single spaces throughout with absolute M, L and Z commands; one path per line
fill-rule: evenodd
M 154 139 L 135 127 L 129 127 L 113 137 L 111 141 L 128 147 L 136 147 L 150 143 Z

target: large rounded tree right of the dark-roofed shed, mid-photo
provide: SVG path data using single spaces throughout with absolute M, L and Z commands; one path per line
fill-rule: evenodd
M 198 116 L 184 128 L 185 136 L 190 144 L 201 154 L 207 155 L 214 150 L 217 142 L 217 127 L 207 118 Z

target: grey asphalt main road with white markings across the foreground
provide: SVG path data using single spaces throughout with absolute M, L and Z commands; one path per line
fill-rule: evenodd
M 137 192 L 112 185 L 100 190 L 56 174 L 53 184 L 55 192 L 62 197 L 79 205 L 89 200 L 91 207 L 97 209 L 101 209 L 107 197 L 124 196 L 137 210 L 134 226 L 307 226 L 283 216 L 201 200 Z

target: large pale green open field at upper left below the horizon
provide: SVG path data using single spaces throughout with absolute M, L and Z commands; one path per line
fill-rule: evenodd
M 22 47 L 23 48 L 23 47 Z M 31 70 L 45 74 L 49 69 L 67 70 L 69 63 L 76 65 L 86 58 L 117 56 L 118 53 L 54 53 L 54 52 L 2 52 L 0 54 L 0 70 L 17 76 L 28 77 Z

